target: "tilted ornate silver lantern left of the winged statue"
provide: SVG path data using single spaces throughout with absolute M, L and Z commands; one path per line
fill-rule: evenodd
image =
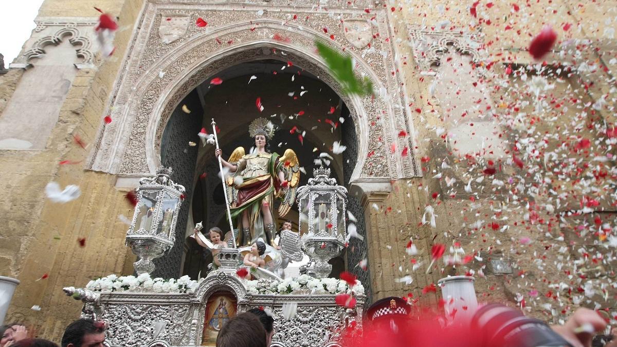
M 154 271 L 152 259 L 163 256 L 176 241 L 176 220 L 184 199 L 184 186 L 172 181 L 172 168 L 159 167 L 155 177 L 139 180 L 133 222 L 126 245 L 139 257 L 133 263 L 138 275 Z

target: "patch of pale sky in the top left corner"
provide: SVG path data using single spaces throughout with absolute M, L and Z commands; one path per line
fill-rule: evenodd
M 22 50 L 23 43 L 30 38 L 43 1 L 0 1 L 0 53 L 4 55 L 6 68 Z

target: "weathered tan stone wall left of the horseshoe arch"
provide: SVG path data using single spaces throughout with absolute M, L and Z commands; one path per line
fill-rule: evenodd
M 0 151 L 0 181 L 5 192 L 0 211 L 4 224 L 0 233 L 0 274 L 21 281 L 6 320 L 25 322 L 41 337 L 59 340 L 64 327 L 78 316 L 80 304 L 67 300 L 63 286 L 83 284 L 89 278 L 112 272 L 132 272 L 131 267 L 125 267 L 133 262 L 123 246 L 127 226 L 118 220 L 120 214 L 132 215 L 123 197 L 125 192 L 113 188 L 115 177 L 83 170 L 83 161 L 88 144 L 102 124 L 104 105 L 142 4 L 48 0 L 39 12 L 44 17 L 96 17 L 93 6 L 97 6 L 120 17 L 114 56 L 96 69 L 77 70 L 46 148 Z M 31 64 L 35 70 L 36 59 Z M 28 72 L 11 69 L 0 76 L 0 88 L 14 88 L 11 85 Z M 2 98 L 5 95 L 2 93 Z M 75 143 L 73 136 L 79 136 L 86 148 Z M 60 165 L 60 161 L 76 164 Z M 44 193 L 50 181 L 62 187 L 80 186 L 81 197 L 67 204 L 51 203 Z M 80 247 L 79 238 L 86 238 L 85 247 Z M 36 281 L 44 274 L 49 277 Z M 31 310 L 33 305 L 41 306 L 41 311 Z

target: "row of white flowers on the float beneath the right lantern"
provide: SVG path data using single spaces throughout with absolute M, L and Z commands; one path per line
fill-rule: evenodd
M 309 292 L 310 294 L 364 294 L 364 286 L 360 281 L 350 288 L 349 284 L 336 278 L 313 278 L 309 275 L 300 275 L 296 278 L 277 280 L 247 281 L 246 289 L 251 294 L 295 294 Z

